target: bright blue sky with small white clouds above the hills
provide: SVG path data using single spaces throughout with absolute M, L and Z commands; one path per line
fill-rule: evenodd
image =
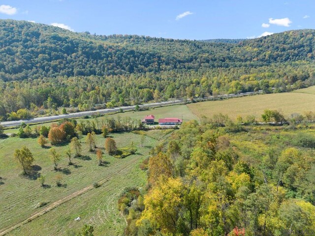
M 76 32 L 250 38 L 315 28 L 315 0 L 0 0 L 0 19 Z

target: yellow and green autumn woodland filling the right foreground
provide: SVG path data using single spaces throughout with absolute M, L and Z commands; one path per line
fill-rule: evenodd
M 222 114 L 184 123 L 140 166 L 147 188 L 121 195 L 125 235 L 314 235 L 314 125 L 305 124 L 244 126 Z

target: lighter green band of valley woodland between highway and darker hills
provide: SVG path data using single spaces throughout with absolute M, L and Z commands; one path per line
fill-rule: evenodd
M 57 77 L 21 82 L 0 80 L 0 119 L 28 119 L 221 93 L 285 92 L 314 85 L 314 70 L 312 63 L 300 62 L 130 76 Z M 64 110 L 58 110 L 60 107 Z

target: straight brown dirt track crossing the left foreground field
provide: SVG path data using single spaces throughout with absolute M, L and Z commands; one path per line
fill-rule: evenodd
M 121 173 L 121 172 L 123 172 L 123 171 L 125 171 L 125 170 L 127 170 L 127 169 L 130 169 L 131 167 L 133 167 L 133 164 L 135 164 L 135 163 L 140 159 L 140 157 L 141 157 L 141 156 L 138 156 L 138 158 L 134 158 L 135 160 L 133 160 L 133 161 L 131 161 L 131 162 L 126 162 L 126 164 L 122 166 L 122 167 L 123 167 L 122 169 L 116 171 L 115 173 L 110 174 L 109 176 L 106 176 L 106 177 L 100 179 L 100 180 L 98 181 L 98 183 L 99 183 L 100 185 L 102 185 L 102 184 L 104 184 L 105 182 L 107 182 L 111 177 L 113 177 L 113 176 L 115 176 L 115 175 L 118 175 L 119 173 Z M 7 227 L 1 229 L 1 230 L 0 230 L 0 236 L 3 236 L 3 235 L 5 235 L 5 234 L 11 232 L 11 231 L 14 230 L 14 229 L 19 228 L 19 227 L 23 226 L 24 224 L 27 224 L 28 222 L 31 222 L 31 221 L 34 220 L 35 218 L 37 218 L 37 217 L 39 217 L 39 216 L 41 216 L 41 215 L 43 215 L 43 214 L 49 212 L 50 210 L 52 210 L 52 209 L 54 209 L 54 208 L 56 208 L 56 207 L 62 205 L 62 204 L 65 203 L 65 202 L 70 201 L 71 199 L 73 199 L 73 198 L 75 198 L 75 197 L 77 197 L 77 196 L 82 195 L 83 193 L 86 193 L 87 191 L 89 191 L 89 190 L 91 190 L 91 189 L 93 189 L 93 188 L 94 188 L 94 187 L 93 187 L 93 185 L 91 184 L 91 185 L 89 185 L 89 186 L 87 186 L 87 187 L 85 187 L 85 188 L 83 188 L 83 189 L 80 189 L 80 190 L 78 190 L 78 191 L 76 191 L 76 192 L 74 192 L 74 193 L 72 193 L 72 194 L 70 194 L 70 195 L 68 195 L 68 196 L 66 196 L 66 197 L 64 197 L 64 198 L 62 198 L 62 199 L 60 199 L 60 200 L 54 202 L 54 203 L 52 203 L 51 205 L 49 205 L 49 206 L 47 206 L 47 207 L 44 207 L 44 208 L 41 209 L 41 210 L 38 210 L 38 211 L 33 212 L 31 215 L 29 215 L 28 218 L 18 220 L 18 221 L 16 221 L 16 222 L 10 224 L 9 226 L 7 226 Z

